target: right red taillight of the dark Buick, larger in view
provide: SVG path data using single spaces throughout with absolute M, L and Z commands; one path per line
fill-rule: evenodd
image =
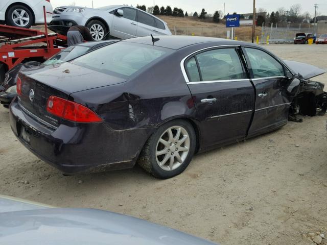
M 50 96 L 46 110 L 53 115 L 76 122 L 100 122 L 102 119 L 85 106 L 57 96 Z

